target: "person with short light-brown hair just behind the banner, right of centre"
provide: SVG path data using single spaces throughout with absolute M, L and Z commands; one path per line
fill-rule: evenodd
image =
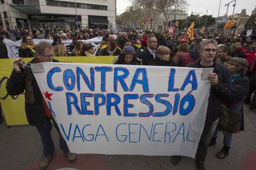
M 159 46 L 156 49 L 155 59 L 151 59 L 148 63 L 150 66 L 176 66 L 173 59 L 170 59 L 171 50 L 166 46 Z

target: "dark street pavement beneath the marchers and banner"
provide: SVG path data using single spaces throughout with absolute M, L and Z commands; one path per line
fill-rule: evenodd
M 215 157 L 223 147 L 223 134 L 220 132 L 217 144 L 210 147 L 205 161 L 206 169 L 241 169 L 244 158 L 256 151 L 256 114 L 244 106 L 245 131 L 233 135 L 232 147 L 225 159 Z M 171 156 L 139 156 L 139 155 L 79 155 L 77 164 L 64 163 L 59 157 L 63 153 L 59 149 L 59 137 L 53 128 L 53 139 L 56 146 L 56 159 L 53 164 L 59 163 L 58 168 L 75 169 L 196 169 L 194 159 L 184 157 L 177 166 L 171 164 Z M 246 159 L 247 166 L 254 164 L 256 169 L 256 154 L 252 159 Z M 0 169 L 39 169 L 38 164 L 42 156 L 41 140 L 36 128 L 31 125 L 7 127 L 3 122 L 0 125 Z M 58 158 L 57 158 L 58 157 Z M 60 161 L 62 160 L 62 162 Z M 82 160 L 82 161 L 81 161 Z M 83 163 L 83 160 L 87 160 Z M 64 159 L 64 161 L 66 161 Z M 83 164 L 82 164 L 83 163 Z M 52 163 L 51 163 L 52 164 Z M 80 166 L 79 166 L 80 164 Z M 82 168 L 81 168 L 82 166 Z M 77 168 L 80 167 L 80 168 Z M 48 169 L 58 169 L 49 166 Z

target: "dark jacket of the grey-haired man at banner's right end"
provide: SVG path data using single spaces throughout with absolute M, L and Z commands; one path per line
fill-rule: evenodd
M 202 67 L 200 66 L 200 60 L 198 62 L 191 63 L 187 67 Z M 222 101 L 230 101 L 233 99 L 234 91 L 231 85 L 231 75 L 226 67 L 220 64 L 214 63 L 214 70 L 218 75 L 218 83 L 216 86 L 211 86 L 210 96 L 208 98 L 207 108 L 207 121 L 214 122 L 220 117 L 220 108 Z

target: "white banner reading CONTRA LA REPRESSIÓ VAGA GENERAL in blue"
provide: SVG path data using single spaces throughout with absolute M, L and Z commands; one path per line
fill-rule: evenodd
M 32 70 L 71 152 L 194 158 L 207 69 L 41 63 Z

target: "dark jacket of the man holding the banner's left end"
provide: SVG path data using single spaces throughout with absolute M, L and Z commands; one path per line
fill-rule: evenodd
M 53 62 L 59 62 L 53 60 Z M 35 59 L 30 61 L 35 63 Z M 25 90 L 25 112 L 30 125 L 45 124 L 45 108 L 41 97 L 41 91 L 36 83 L 30 67 L 25 67 L 21 73 L 12 70 L 12 74 L 7 82 L 6 90 L 8 95 L 20 95 Z

